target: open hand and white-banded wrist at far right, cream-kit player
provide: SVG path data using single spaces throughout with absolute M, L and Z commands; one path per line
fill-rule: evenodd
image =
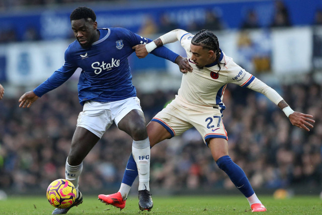
M 284 100 L 280 101 L 277 106 L 283 110 L 292 125 L 303 128 L 306 131 L 310 131 L 309 128 L 313 128 L 315 121 L 311 119 L 313 118 L 312 115 L 293 111 Z

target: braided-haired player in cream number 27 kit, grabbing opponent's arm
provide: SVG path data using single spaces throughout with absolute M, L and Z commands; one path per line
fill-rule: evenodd
M 216 35 L 209 30 L 201 30 L 196 35 L 181 29 L 173 30 L 146 45 L 137 45 L 136 55 L 139 58 L 145 57 L 154 48 L 175 41 L 180 41 L 186 50 L 192 72 L 181 69 L 184 75 L 178 95 L 147 125 L 150 146 L 195 127 L 218 167 L 245 195 L 252 211 L 266 211 L 244 171 L 228 155 L 227 132 L 222 120 L 223 110 L 226 108 L 222 102 L 225 88 L 228 83 L 232 83 L 264 94 L 283 110 L 293 125 L 307 131 L 313 127 L 313 116 L 294 112 L 275 90 L 237 65 L 219 48 Z M 136 171 L 135 167 L 130 156 L 119 192 L 100 196 L 106 199 L 117 198 L 125 206 L 126 197 L 137 175 L 133 171 Z

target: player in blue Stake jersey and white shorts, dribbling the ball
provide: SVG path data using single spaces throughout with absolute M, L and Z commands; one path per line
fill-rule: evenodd
M 83 160 L 113 122 L 133 138 L 132 154 L 139 170 L 139 208 L 150 210 L 150 144 L 127 57 L 134 52 L 133 46 L 152 40 L 124 28 L 98 29 L 96 15 L 87 7 L 76 8 L 70 14 L 70 22 L 76 40 L 66 49 L 63 66 L 19 99 L 19 107 L 29 108 L 39 97 L 67 81 L 78 67 L 82 68 L 78 98 L 84 108 L 78 115 L 65 165 L 65 178 L 74 184 L 77 196 L 70 207 L 56 208 L 52 214 L 67 213 L 83 202 L 78 190 Z M 180 70 L 190 67 L 187 59 L 166 47 L 152 53 L 177 63 Z

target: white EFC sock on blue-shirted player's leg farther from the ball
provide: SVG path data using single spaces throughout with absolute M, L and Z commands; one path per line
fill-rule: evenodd
M 139 189 L 150 190 L 150 141 L 149 138 L 135 141 L 132 144 L 132 154 L 139 175 Z

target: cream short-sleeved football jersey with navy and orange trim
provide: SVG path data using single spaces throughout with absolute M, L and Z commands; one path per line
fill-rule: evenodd
M 221 109 L 225 109 L 222 98 L 227 84 L 233 83 L 240 87 L 247 87 L 254 81 L 255 77 L 237 65 L 231 57 L 226 56 L 222 51 L 220 70 L 217 64 L 198 68 L 191 60 L 190 44 L 193 36 L 186 33 L 180 39 L 193 71 L 183 74 L 176 99 L 186 105 L 218 105 Z

